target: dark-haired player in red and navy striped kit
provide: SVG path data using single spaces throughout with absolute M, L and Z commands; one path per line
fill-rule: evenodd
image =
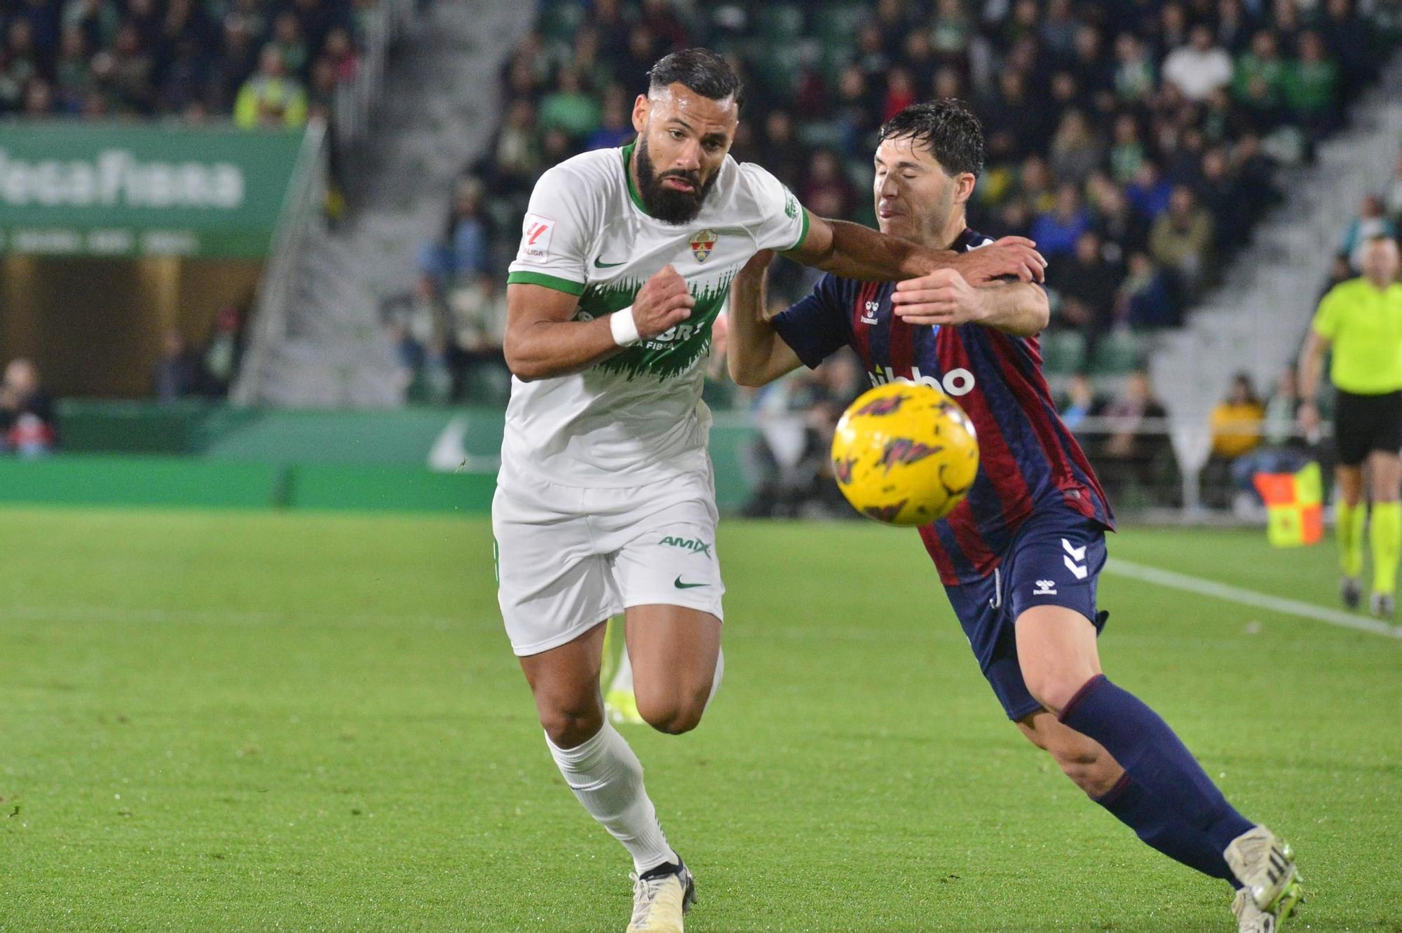
M 892 118 L 875 156 L 882 233 L 942 249 L 991 242 L 965 224 L 983 154 L 979 120 L 956 101 Z M 826 275 L 767 321 L 771 258 L 758 254 L 732 286 L 732 377 L 763 385 L 850 346 L 873 385 L 955 396 L 977 431 L 979 475 L 920 537 L 1008 719 L 1144 842 L 1230 881 L 1239 930 L 1276 930 L 1301 898 L 1290 848 L 1237 813 L 1173 730 L 1101 672 L 1108 614 L 1095 594 L 1113 518 L 1042 375 L 1046 294 L 1026 282 L 973 287 L 949 269 L 899 284 Z

